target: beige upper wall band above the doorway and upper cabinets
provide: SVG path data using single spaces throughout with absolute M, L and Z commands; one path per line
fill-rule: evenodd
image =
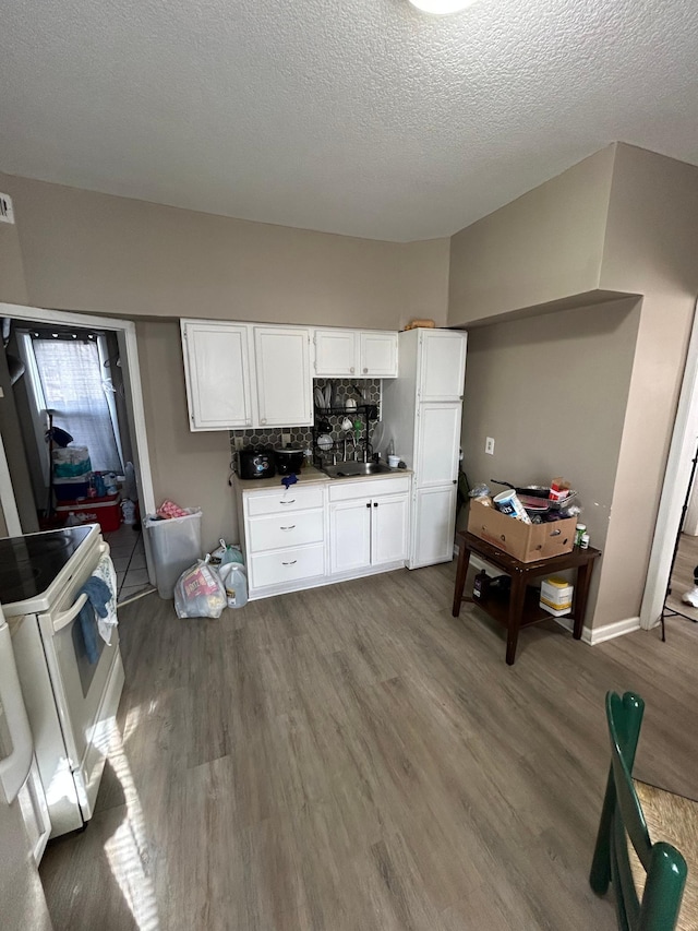
M 397 330 L 446 322 L 448 238 L 378 242 L 0 174 L 29 302 L 145 317 Z

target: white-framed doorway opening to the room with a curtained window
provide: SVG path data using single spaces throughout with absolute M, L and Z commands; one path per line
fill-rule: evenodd
M 94 522 L 97 514 L 119 601 L 151 590 L 139 516 L 155 509 L 135 325 L 15 305 L 0 305 L 0 317 L 5 397 L 11 385 L 0 422 L 7 533 Z

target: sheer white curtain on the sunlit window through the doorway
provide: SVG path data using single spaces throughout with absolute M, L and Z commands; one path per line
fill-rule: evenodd
M 34 338 L 34 355 L 53 426 L 87 446 L 96 472 L 123 473 L 96 339 Z

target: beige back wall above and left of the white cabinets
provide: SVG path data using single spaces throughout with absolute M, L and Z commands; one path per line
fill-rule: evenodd
M 201 504 L 207 545 L 237 536 L 229 438 L 189 431 L 177 318 L 387 330 L 414 317 L 446 322 L 448 238 L 332 236 L 2 174 L 0 190 L 17 217 L 11 237 L 0 225 L 4 300 L 147 318 L 137 341 L 156 500 Z M 11 277 L 24 282 L 22 262 L 27 288 L 11 290 Z

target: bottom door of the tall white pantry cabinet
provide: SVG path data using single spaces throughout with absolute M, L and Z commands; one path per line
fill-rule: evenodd
M 414 496 L 412 552 L 409 568 L 448 562 L 454 558 L 456 529 L 455 485 L 420 488 Z

